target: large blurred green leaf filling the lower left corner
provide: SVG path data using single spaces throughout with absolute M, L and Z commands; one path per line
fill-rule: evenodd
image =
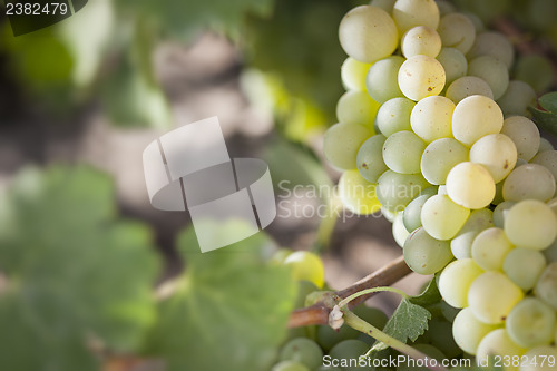
M 150 231 L 115 217 L 110 178 L 28 168 L 0 192 L 0 369 L 95 370 L 91 341 L 139 348 L 155 320 Z

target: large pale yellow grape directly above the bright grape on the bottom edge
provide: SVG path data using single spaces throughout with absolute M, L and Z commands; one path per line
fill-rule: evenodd
M 468 305 L 483 323 L 504 323 L 524 292 L 505 274 L 489 271 L 480 274 L 468 290 Z

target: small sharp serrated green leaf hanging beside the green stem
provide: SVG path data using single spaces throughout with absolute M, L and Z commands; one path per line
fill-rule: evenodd
M 404 343 L 409 339 L 414 341 L 428 330 L 429 320 L 431 320 L 431 313 L 427 309 L 413 304 L 411 299 L 404 297 L 387 322 L 383 332 Z M 381 351 L 387 348 L 388 345 L 384 343 L 377 343 L 372 350 Z

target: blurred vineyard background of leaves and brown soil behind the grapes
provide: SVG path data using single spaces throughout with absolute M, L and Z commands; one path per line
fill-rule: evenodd
M 555 1 L 457 2 L 554 56 Z M 0 14 L 0 369 L 264 370 L 296 290 L 268 264 L 278 247 L 322 253 L 332 289 L 401 254 L 387 219 L 314 192 L 340 175 L 321 140 L 344 91 L 338 25 L 360 3 L 90 0 L 18 37 Z M 188 213 L 153 208 L 144 180 L 150 141 L 211 116 L 231 157 L 267 162 L 277 198 L 234 257 L 201 255 Z

